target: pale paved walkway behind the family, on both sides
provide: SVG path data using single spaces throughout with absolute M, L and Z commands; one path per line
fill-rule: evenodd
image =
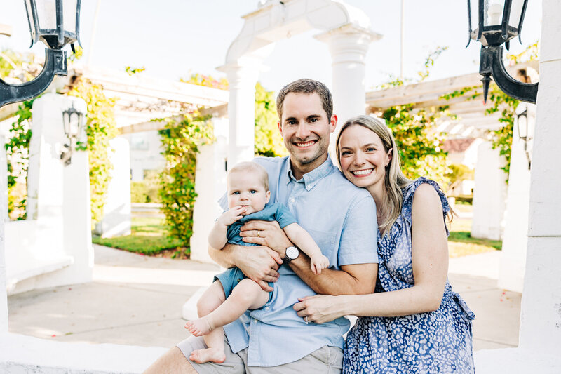
M 452 287 L 477 315 L 476 350 L 518 345 L 520 293 L 496 288 L 492 271 L 482 271 L 499 254 L 450 262 Z M 470 269 L 483 276 L 466 275 Z M 8 297 L 9 330 L 65 342 L 171 347 L 189 335 L 184 302 L 218 271 L 216 265 L 95 246 L 93 282 Z

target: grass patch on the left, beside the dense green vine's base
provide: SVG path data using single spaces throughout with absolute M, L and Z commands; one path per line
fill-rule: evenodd
M 165 231 L 164 219 L 157 216 L 135 216 L 131 220 L 131 233 L 114 238 L 93 237 L 93 243 L 129 252 L 156 255 L 165 250 L 184 251 L 181 242 L 170 239 Z

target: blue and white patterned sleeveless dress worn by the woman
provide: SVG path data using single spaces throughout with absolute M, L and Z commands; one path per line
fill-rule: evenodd
M 419 178 L 403 189 L 403 209 L 391 231 L 378 234 L 379 269 L 375 292 L 414 286 L 411 208 L 422 183 L 440 196 L 444 218 L 448 201 L 433 180 Z M 446 229 L 448 233 L 448 229 Z M 343 372 L 474 373 L 471 320 L 475 314 L 446 281 L 440 307 L 434 312 L 399 317 L 361 317 L 346 338 Z

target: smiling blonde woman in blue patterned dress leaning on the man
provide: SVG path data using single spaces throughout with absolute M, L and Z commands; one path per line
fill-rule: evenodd
M 408 180 L 381 119 L 358 116 L 337 138 L 345 177 L 376 202 L 379 272 L 370 295 L 316 295 L 295 305 L 315 323 L 359 318 L 347 335 L 344 373 L 473 373 L 471 320 L 447 281 L 450 212 L 437 183 Z

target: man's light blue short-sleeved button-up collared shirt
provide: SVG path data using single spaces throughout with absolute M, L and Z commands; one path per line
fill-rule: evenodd
M 377 220 L 374 199 L 366 189 L 346 180 L 331 159 L 295 180 L 289 157 L 257 158 L 269 173 L 269 203 L 283 203 L 329 258 L 330 269 L 377 263 Z M 219 201 L 227 208 L 225 196 Z M 316 293 L 288 265 L 280 266 L 272 298 L 224 326 L 232 352 L 248 348 L 248 366 L 278 366 L 297 361 L 330 345 L 343 349 L 349 320 L 306 325 L 292 306 Z

